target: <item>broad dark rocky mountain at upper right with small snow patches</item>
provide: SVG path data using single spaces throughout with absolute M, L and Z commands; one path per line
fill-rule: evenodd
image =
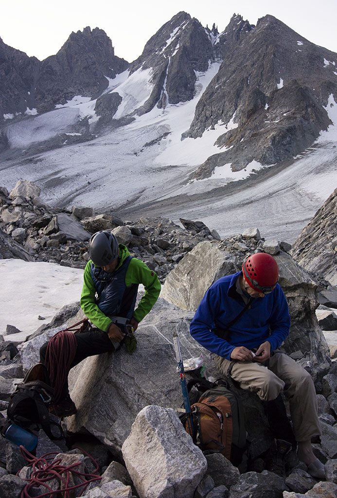
M 194 177 L 210 176 L 225 163 L 237 171 L 253 159 L 261 164 L 282 162 L 313 143 L 330 124 L 323 105 L 337 85 L 332 65 L 322 73 L 324 58 L 336 60 L 336 54 L 310 43 L 272 15 L 259 19 L 224 54 L 218 74 L 197 104 L 189 136 L 202 136 L 205 129 L 232 119 L 237 127 L 227 131 L 224 126 L 217 143 L 230 150 L 211 156 Z

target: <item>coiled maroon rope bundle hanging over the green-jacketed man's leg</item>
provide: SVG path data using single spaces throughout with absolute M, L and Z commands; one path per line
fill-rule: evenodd
M 53 402 L 61 398 L 62 387 L 65 384 L 70 366 L 74 361 L 77 342 L 73 332 L 61 330 L 49 341 L 45 364 L 47 366 L 50 383 L 54 388 Z

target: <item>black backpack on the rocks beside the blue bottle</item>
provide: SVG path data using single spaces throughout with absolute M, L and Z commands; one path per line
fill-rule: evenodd
M 49 415 L 53 394 L 46 367 L 42 363 L 34 365 L 10 396 L 7 418 L 30 432 L 42 428 L 50 439 L 63 439 L 61 426 Z M 58 428 L 58 436 L 52 433 L 52 425 Z

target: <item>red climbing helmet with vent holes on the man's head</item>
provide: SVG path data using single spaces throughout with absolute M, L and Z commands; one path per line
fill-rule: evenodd
M 242 272 L 247 284 L 257 292 L 269 294 L 277 284 L 277 262 L 265 252 L 248 256 L 242 264 Z

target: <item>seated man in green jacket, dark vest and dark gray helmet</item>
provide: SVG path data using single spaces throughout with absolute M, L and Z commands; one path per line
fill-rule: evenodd
M 131 256 L 111 232 L 94 234 L 89 254 L 91 259 L 84 270 L 81 308 L 94 327 L 75 334 L 76 353 L 70 368 L 88 356 L 119 349 L 128 333 L 134 332 L 149 313 L 160 293 L 156 273 Z M 145 292 L 135 309 L 139 284 L 144 286 Z M 46 350 L 47 343 L 40 349 L 41 363 L 45 363 Z M 54 405 L 54 412 L 59 417 L 76 413 L 67 381 Z

